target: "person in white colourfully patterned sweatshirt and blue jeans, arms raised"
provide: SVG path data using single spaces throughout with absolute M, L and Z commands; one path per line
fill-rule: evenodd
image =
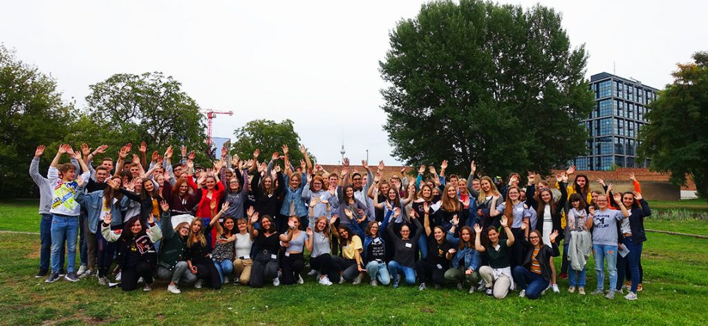
M 59 159 L 64 154 L 74 156 L 76 161 L 81 165 L 81 170 L 84 171 L 76 178 L 76 167 L 72 163 L 59 165 Z M 59 178 L 59 173 L 62 177 Z M 76 275 L 76 238 L 79 235 L 79 214 L 81 206 L 76 202 L 76 188 L 79 187 L 79 182 L 83 184 L 89 179 L 91 172 L 86 166 L 84 160 L 81 159 L 81 152 L 72 150 L 72 147 L 67 144 L 59 146 L 57 156 L 55 156 L 47 172 L 47 180 L 52 187 L 52 273 L 47 276 L 45 282 L 53 283 L 59 279 L 59 255 L 64 248 L 64 239 L 67 239 L 67 275 L 64 279 L 67 281 L 78 281 L 79 276 Z

